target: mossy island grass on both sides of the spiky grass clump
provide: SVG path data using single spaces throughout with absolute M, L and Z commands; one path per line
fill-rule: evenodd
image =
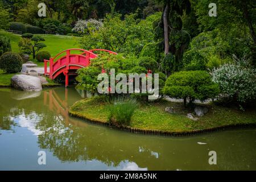
M 165 107 L 174 107 L 176 113 L 164 111 Z M 241 111 L 236 108 L 207 105 L 209 111 L 197 121 L 188 119 L 188 113 L 183 104 L 160 101 L 151 104 L 141 104 L 131 119 L 131 127 L 147 130 L 170 132 L 185 132 L 209 129 L 219 126 L 236 125 L 241 123 L 256 123 L 256 109 Z M 109 111 L 106 103 L 98 98 L 90 98 L 76 102 L 69 113 L 92 121 L 108 122 Z

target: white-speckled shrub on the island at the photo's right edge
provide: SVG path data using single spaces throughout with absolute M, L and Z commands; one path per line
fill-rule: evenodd
M 249 66 L 245 57 L 238 60 L 234 56 L 234 63 L 213 69 L 211 75 L 213 82 L 220 86 L 223 96 L 234 101 L 246 102 L 256 98 L 255 73 L 255 69 Z

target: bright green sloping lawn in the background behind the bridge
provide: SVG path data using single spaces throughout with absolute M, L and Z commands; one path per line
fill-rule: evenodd
M 18 43 L 21 39 L 20 35 L 16 35 L 6 31 L 0 31 L 0 35 L 7 36 L 11 39 L 11 49 L 13 52 L 19 52 Z M 66 35 L 44 35 L 36 34 L 42 36 L 46 41 L 43 42 L 47 47 L 43 50 L 51 52 L 51 56 L 55 57 L 59 52 L 64 51 L 65 49 L 70 48 L 79 48 L 78 37 L 75 36 L 66 36 Z M 39 67 L 43 67 L 43 62 L 38 62 L 36 59 L 32 59 L 30 55 L 30 61 L 38 64 Z

